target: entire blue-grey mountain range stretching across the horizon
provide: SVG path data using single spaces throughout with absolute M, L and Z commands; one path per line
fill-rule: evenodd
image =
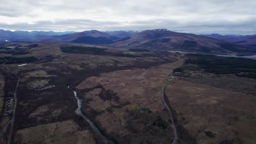
M 199 53 L 256 53 L 256 35 L 196 35 L 152 29 L 142 32 L 97 30 L 84 32 L 27 32 L 0 30 L 0 39 L 10 41 L 56 41 L 60 43 L 107 44 L 115 47 L 138 47 Z

